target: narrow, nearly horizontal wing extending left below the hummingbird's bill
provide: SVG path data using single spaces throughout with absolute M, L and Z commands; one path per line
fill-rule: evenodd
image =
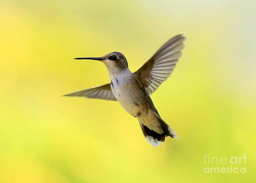
M 89 88 L 87 90 L 81 90 L 74 93 L 69 93 L 64 96 L 84 96 L 87 98 L 93 99 L 105 99 L 105 100 L 112 100 L 117 101 L 116 97 L 113 95 L 113 92 L 110 87 L 110 83 L 103 84 L 98 87 Z

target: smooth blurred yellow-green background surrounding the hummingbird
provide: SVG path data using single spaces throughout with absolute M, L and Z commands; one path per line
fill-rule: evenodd
M 255 181 L 255 6 L 1 0 L 0 183 Z M 104 64 L 73 58 L 119 51 L 134 72 L 177 34 L 183 56 L 151 96 L 177 140 L 155 148 L 118 102 L 61 97 L 109 82 Z M 206 174 L 204 154 L 246 154 L 246 173 Z

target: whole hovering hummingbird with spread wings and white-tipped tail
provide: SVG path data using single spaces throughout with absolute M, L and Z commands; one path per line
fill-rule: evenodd
M 127 113 L 138 119 L 145 138 L 153 146 L 160 145 L 166 137 L 177 139 L 175 131 L 160 117 L 150 95 L 173 72 L 184 40 L 183 35 L 171 38 L 134 73 L 128 69 L 128 62 L 120 52 L 103 57 L 74 58 L 101 61 L 108 69 L 110 83 L 64 96 L 118 101 Z

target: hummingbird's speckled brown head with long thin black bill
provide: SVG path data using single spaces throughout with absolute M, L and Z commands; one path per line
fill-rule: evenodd
M 125 56 L 120 52 L 112 52 L 103 57 L 82 57 L 75 59 L 88 59 L 102 61 L 108 68 L 109 74 L 120 73 L 128 69 L 128 63 Z

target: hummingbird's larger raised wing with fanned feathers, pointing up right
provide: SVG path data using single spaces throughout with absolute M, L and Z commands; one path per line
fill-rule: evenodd
M 148 95 L 154 93 L 173 72 L 181 56 L 180 50 L 184 47 L 184 40 L 182 35 L 170 39 L 134 73 Z

